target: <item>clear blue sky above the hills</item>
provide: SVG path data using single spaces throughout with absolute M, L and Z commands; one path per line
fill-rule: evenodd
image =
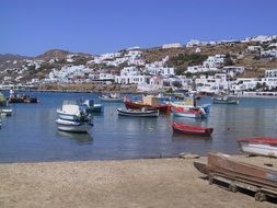
M 99 55 L 277 35 L 276 0 L 0 0 L 0 54 Z

